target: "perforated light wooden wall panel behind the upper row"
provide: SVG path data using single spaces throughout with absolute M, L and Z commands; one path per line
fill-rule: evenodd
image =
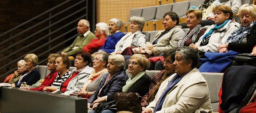
M 128 22 L 130 9 L 150 7 L 155 4 L 156 0 L 97 0 L 97 23 L 108 23 L 111 18 L 120 18 L 123 23 L 126 23 Z

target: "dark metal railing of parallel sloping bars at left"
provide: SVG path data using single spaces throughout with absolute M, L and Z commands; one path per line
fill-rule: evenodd
M 34 17 L 34 18 L 32 18 L 32 19 L 30 19 L 30 20 L 28 20 L 28 21 L 26 21 L 26 22 L 24 22 L 24 23 L 18 25 L 17 27 L 14 27 L 13 29 L 8 30 L 7 32 L 4 32 L 3 34 L 0 34 L 0 37 L 6 35 L 6 34 L 8 34 L 8 33 L 11 33 L 13 30 L 18 29 L 19 27 L 22 27 L 22 26 L 26 25 L 27 23 L 32 22 L 32 21 L 35 20 L 35 19 L 38 19 L 39 17 L 43 16 L 44 14 L 51 13 L 51 11 L 53 11 L 54 9 L 56 9 L 56 8 L 58 8 L 58 7 L 60 7 L 60 6 L 64 5 L 64 4 L 67 4 L 67 3 L 70 2 L 70 1 L 72 1 L 72 0 L 67 0 L 67 1 L 65 1 L 65 2 L 63 2 L 63 3 L 59 4 L 59 5 L 57 5 L 56 7 L 53 7 L 52 9 L 49 9 L 49 10 L 46 11 L 45 13 L 39 14 L 38 16 L 36 16 L 36 17 Z M 41 29 L 41 30 L 39 30 L 39 31 L 37 31 L 37 32 L 35 32 L 35 33 L 33 33 L 32 35 L 30 35 L 30 36 L 28 36 L 28 37 L 26 37 L 26 38 L 24 38 L 24 39 L 18 41 L 17 43 L 14 43 L 14 44 L 11 44 L 11 43 L 10 43 L 11 45 L 10 45 L 9 47 L 4 48 L 3 50 L 1 50 L 0 53 L 6 51 L 6 50 L 8 50 L 8 49 L 11 49 L 12 47 L 15 47 L 16 45 L 18 45 L 18 44 L 21 43 L 22 41 L 25 41 L 25 40 L 27 40 L 27 39 L 29 39 L 29 38 L 31 38 L 31 37 L 33 37 L 33 36 L 39 34 L 40 32 L 42 32 L 42 31 L 44 31 L 44 30 L 46 30 L 46 29 L 49 29 L 49 31 L 50 31 L 51 27 L 53 27 L 53 26 L 56 25 L 57 23 L 62 22 L 63 20 L 65 20 L 65 19 L 67 19 L 67 18 L 73 16 L 74 14 L 78 14 L 79 12 L 83 11 L 84 9 L 86 9 L 86 13 L 85 13 L 84 15 L 82 15 L 82 16 L 76 18 L 76 19 L 73 20 L 72 22 L 69 22 L 69 23 L 67 23 L 67 24 L 65 23 L 65 25 L 61 26 L 60 28 L 58 28 L 58 29 L 56 29 L 56 30 L 54 30 L 54 31 L 50 31 L 47 35 L 43 36 L 42 38 L 37 39 L 36 41 L 33 41 L 32 43 L 30 43 L 30 44 L 28 44 L 28 45 L 26 45 L 26 46 L 24 46 L 24 47 L 22 47 L 22 48 L 19 48 L 17 51 L 13 51 L 13 52 L 9 53 L 9 55 L 7 55 L 6 57 L 1 58 L 1 59 L 0 59 L 0 62 L 3 61 L 4 59 L 8 58 L 8 57 L 11 57 L 11 56 L 17 54 L 17 53 L 20 52 L 21 50 L 24 50 L 25 48 L 28 48 L 28 47 L 30 47 L 31 45 L 33 45 L 33 44 L 35 44 L 35 43 L 41 41 L 42 39 L 45 39 L 46 37 L 51 36 L 52 34 L 58 32 L 59 30 L 65 28 L 65 27 L 67 27 L 67 26 L 69 26 L 69 25 L 72 25 L 72 23 L 77 22 L 78 20 L 80 20 L 81 18 L 83 18 L 83 17 L 85 17 L 85 16 L 86 16 L 85 19 L 87 19 L 87 18 L 88 18 L 88 17 L 87 17 L 87 13 L 88 13 L 88 8 L 87 8 L 87 6 L 88 6 L 88 0 L 81 0 L 80 2 L 77 2 L 76 4 L 74 4 L 74 5 L 72 5 L 72 6 L 68 7 L 68 8 L 66 8 L 66 9 L 64 9 L 64 10 L 62 10 L 62 11 L 60 11 L 60 12 L 58 12 L 57 14 L 54 14 L 53 16 L 49 16 L 47 19 L 43 20 L 42 22 L 39 22 L 39 23 L 33 25 L 32 27 L 30 27 L 30 28 L 28 28 L 28 29 L 26 29 L 26 30 L 23 30 L 22 32 L 19 32 L 18 34 L 14 35 L 14 36 L 12 36 L 12 33 L 11 33 L 11 34 L 10 34 L 10 38 L 8 38 L 8 39 L 4 40 L 3 42 L 1 42 L 0 45 L 6 43 L 6 42 L 8 42 L 8 41 L 11 42 L 11 39 L 14 39 L 15 37 L 19 36 L 20 34 L 23 34 L 24 32 L 30 31 L 30 30 L 32 30 L 33 28 L 35 28 L 35 27 L 41 25 L 42 23 L 45 23 L 46 21 L 51 21 L 52 18 L 58 16 L 58 15 L 61 14 L 61 13 L 64 13 L 65 11 L 68 11 L 68 10 L 71 9 L 72 7 L 75 7 L 75 6 L 81 4 L 82 2 L 85 2 L 85 1 L 86 1 L 86 6 L 85 6 L 85 7 L 82 7 L 82 8 L 79 9 L 78 11 L 75 11 L 75 12 L 73 12 L 72 14 L 69 14 L 68 16 L 65 16 L 64 18 L 61 18 L 60 20 L 58 20 L 58 21 L 55 22 L 55 23 L 50 23 L 50 22 L 49 22 L 49 25 L 48 25 L 47 27 L 45 27 L 45 28 L 43 28 L 43 29 Z M 51 15 L 51 14 L 50 14 L 50 15 Z M 28 52 L 28 53 L 26 53 L 26 54 L 30 54 L 30 53 L 32 53 L 32 52 L 35 52 L 35 51 L 37 51 L 37 50 L 39 50 L 39 49 L 45 47 L 46 45 L 51 44 L 52 42 L 54 42 L 54 41 L 56 41 L 57 39 L 59 39 L 59 38 L 65 36 L 66 34 L 70 33 L 71 31 L 75 30 L 76 28 L 77 28 L 77 27 L 74 27 L 74 28 L 70 29 L 69 31 L 67 31 L 67 32 L 65 32 L 65 33 L 63 33 L 63 34 L 61 34 L 60 36 L 58 36 L 58 37 L 56 37 L 56 38 L 54 38 L 54 39 L 49 40 L 47 43 L 44 43 L 44 44 L 41 45 L 40 47 L 37 47 L 37 48 L 35 48 L 34 50 L 32 50 L 32 51 L 30 51 L 30 52 Z M 66 39 L 65 41 L 62 41 L 61 43 L 59 43 L 58 45 L 55 45 L 54 47 L 49 47 L 48 50 L 46 50 L 46 51 L 44 51 L 43 53 L 37 55 L 37 57 L 40 57 L 40 56 L 45 55 L 46 53 L 50 52 L 51 50 L 54 50 L 54 49 L 58 48 L 60 45 L 63 45 L 64 43 L 70 41 L 71 39 L 73 39 L 73 38 L 75 38 L 75 37 L 77 37 L 77 36 L 78 36 L 78 34 L 72 36 L 71 38 Z M 50 39 L 50 38 L 49 38 L 49 39 Z M 61 49 L 59 52 L 61 52 L 62 50 L 64 50 L 64 48 Z M 17 59 L 14 59 L 14 60 L 13 60 L 13 59 L 10 59 L 9 63 L 7 63 L 6 65 L 2 66 L 2 67 L 0 68 L 0 70 L 6 68 L 7 66 L 10 66 L 11 64 L 13 64 L 13 63 L 15 63 L 15 62 L 17 62 L 17 61 L 19 61 L 19 60 L 22 59 L 24 56 L 26 56 L 26 54 L 24 54 L 23 56 L 20 56 L 20 57 L 17 58 Z M 39 62 L 38 64 L 43 63 L 45 60 L 47 60 L 47 59 L 43 59 L 43 61 Z M 0 75 L 0 77 L 5 76 L 5 75 L 7 75 L 7 74 L 13 72 L 13 71 L 16 70 L 16 69 L 17 69 L 17 67 L 16 67 L 16 68 L 13 68 L 13 69 L 11 68 L 11 69 L 10 69 L 8 72 L 6 72 L 5 74 Z

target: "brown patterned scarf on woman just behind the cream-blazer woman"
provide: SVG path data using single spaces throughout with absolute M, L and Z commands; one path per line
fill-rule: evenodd
M 155 90 L 152 91 L 152 93 L 148 96 L 148 100 L 147 100 L 147 101 L 148 101 L 149 103 L 152 102 L 152 101 L 155 99 L 156 93 L 157 93 L 157 91 L 159 90 L 159 87 L 160 87 L 161 83 L 163 83 L 163 81 L 165 81 L 168 77 L 170 77 L 170 76 L 173 75 L 173 74 L 174 74 L 174 72 L 173 72 L 172 74 L 167 74 L 166 72 L 165 72 L 165 74 L 163 74 L 163 77 L 161 78 L 161 80 L 159 81 L 159 83 L 156 84 Z

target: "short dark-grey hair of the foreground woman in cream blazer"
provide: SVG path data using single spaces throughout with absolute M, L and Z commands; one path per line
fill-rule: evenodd
M 183 57 L 185 63 L 188 63 L 189 60 L 192 60 L 193 61 L 192 68 L 195 68 L 199 63 L 199 54 L 197 50 L 191 47 L 184 46 L 182 48 L 178 48 L 176 50 L 176 54 L 177 53 L 179 53 Z

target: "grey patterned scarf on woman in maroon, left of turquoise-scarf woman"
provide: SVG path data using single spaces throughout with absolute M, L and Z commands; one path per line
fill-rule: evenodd
M 187 31 L 182 38 L 180 38 L 180 40 L 178 41 L 178 48 L 181 48 L 184 46 L 184 43 L 189 40 L 190 38 L 192 38 L 192 36 L 197 32 L 197 30 L 201 27 L 200 24 L 198 24 L 197 26 L 195 26 L 192 30 Z

